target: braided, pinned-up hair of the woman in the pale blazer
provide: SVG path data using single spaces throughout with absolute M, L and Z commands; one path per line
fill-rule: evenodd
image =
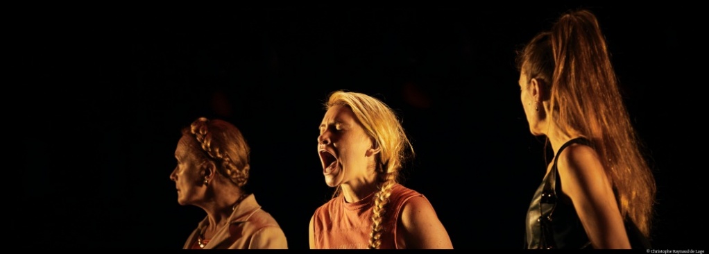
M 192 136 L 199 143 L 207 160 L 213 160 L 221 175 L 236 186 L 243 187 L 249 179 L 250 148 L 239 128 L 221 119 L 201 117 L 182 130 L 182 135 Z

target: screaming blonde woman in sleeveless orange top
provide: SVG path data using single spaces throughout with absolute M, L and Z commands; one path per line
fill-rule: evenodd
M 428 199 L 398 182 L 413 148 L 389 106 L 336 91 L 325 108 L 318 155 L 335 193 L 313 214 L 310 247 L 453 248 Z

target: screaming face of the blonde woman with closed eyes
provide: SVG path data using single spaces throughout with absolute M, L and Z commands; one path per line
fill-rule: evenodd
M 370 148 L 372 140 L 350 107 L 336 105 L 325 112 L 320 123 L 318 155 L 328 186 L 337 187 L 366 175 L 367 165 L 374 165 L 369 162 L 374 157 L 367 155 Z

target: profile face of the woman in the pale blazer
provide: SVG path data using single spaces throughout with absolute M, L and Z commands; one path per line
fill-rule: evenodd
M 203 161 L 197 160 L 195 153 L 194 138 L 182 136 L 175 149 L 175 159 L 177 166 L 170 174 L 170 180 L 175 182 L 177 189 L 177 202 L 181 205 L 194 204 L 204 197 L 204 178 L 200 173 L 200 166 Z

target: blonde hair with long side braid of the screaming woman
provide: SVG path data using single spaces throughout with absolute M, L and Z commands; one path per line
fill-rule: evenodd
M 381 244 L 381 234 L 384 232 L 382 219 L 387 216 L 384 214 L 384 207 L 389 203 L 391 188 L 398 182 L 403 162 L 414 155 L 413 146 L 394 111 L 379 99 L 367 94 L 340 90 L 330 94 L 325 109 L 335 105 L 352 109 L 364 131 L 372 138 L 376 147 L 381 149 L 376 156 L 379 192 L 374 194 L 372 233 L 369 238 L 369 248 L 378 248 Z M 340 187 L 337 187 L 333 197 L 339 194 Z

